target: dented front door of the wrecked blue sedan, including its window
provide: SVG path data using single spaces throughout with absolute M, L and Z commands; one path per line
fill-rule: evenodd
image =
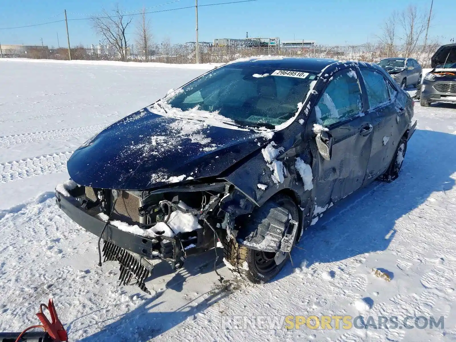
M 337 202 L 363 184 L 371 153 L 373 125 L 364 115 L 365 103 L 357 70 L 344 69 L 334 74 L 308 120 L 321 124 L 332 136 L 332 156 L 316 152 L 316 204 L 324 207 Z

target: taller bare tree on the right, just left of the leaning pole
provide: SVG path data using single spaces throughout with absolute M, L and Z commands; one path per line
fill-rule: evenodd
M 405 44 L 404 57 L 409 57 L 415 52 L 418 41 L 426 30 L 427 18 L 425 13 L 418 12 L 416 6 L 409 5 L 400 15 L 404 36 L 402 40 Z

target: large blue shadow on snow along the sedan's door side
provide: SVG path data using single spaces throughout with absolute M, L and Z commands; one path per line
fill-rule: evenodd
M 423 204 L 433 192 L 455 186 L 456 135 L 416 130 L 409 140 L 399 178 L 391 183 L 374 181 L 324 213 L 309 227 L 275 280 L 293 267 L 344 260 L 383 251 L 395 235 L 396 220 Z

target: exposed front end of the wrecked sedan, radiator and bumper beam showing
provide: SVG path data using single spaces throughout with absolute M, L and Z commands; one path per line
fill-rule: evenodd
M 58 190 L 59 187 L 56 201 L 64 211 L 62 203 L 71 199 L 73 206 L 104 224 L 101 233 L 87 223 L 84 227 L 104 240 L 103 261 L 119 262 L 120 283 L 128 285 L 135 277 L 136 285 L 146 293 L 149 291 L 145 280 L 154 268 L 152 259 L 166 260 L 172 269 L 180 269 L 187 255 L 211 249 L 217 242 L 236 239 L 239 227 L 235 218 L 252 212 L 255 207 L 228 182 L 142 192 L 98 189 L 74 183 L 71 189 L 67 188 L 67 194 Z M 71 213 L 68 215 L 72 217 Z M 128 233 L 130 241 L 115 236 L 112 229 L 106 229 L 108 226 Z M 283 246 L 291 249 L 290 242 L 283 241 Z M 280 245 L 269 246 L 271 251 L 279 248 Z M 215 253 L 217 262 L 217 250 Z

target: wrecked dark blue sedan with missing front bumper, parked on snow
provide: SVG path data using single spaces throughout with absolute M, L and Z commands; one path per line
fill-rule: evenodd
M 398 177 L 413 104 L 375 64 L 231 62 L 89 139 L 56 202 L 123 284 L 148 292 L 153 259 L 179 269 L 218 243 L 229 269 L 266 282 L 327 208 Z

